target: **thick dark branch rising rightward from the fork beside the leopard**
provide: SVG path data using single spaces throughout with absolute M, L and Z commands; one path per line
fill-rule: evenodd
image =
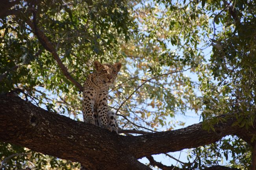
M 224 118 L 226 115 L 221 117 Z M 226 135 L 237 135 L 247 143 L 252 144 L 250 140 L 253 134 L 256 134 L 253 126 L 247 130 L 246 128 L 239 128 L 239 126 L 232 126 L 236 122 L 234 116 L 228 115 L 225 119 L 226 122 L 220 122 L 214 126 L 215 132 L 203 130 L 202 122 L 200 122 L 178 130 L 129 136 L 125 141 L 126 147 L 131 147 L 129 150 L 139 159 L 147 155 L 176 152 L 215 143 Z

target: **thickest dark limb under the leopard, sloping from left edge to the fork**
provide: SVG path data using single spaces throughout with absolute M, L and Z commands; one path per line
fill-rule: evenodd
M 47 112 L 19 97 L 0 96 L 0 141 L 78 161 L 90 170 L 149 170 L 129 153 L 124 139 L 100 127 Z

